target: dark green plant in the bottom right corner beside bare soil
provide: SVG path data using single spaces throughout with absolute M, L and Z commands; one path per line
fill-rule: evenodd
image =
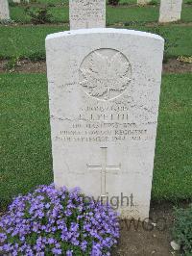
M 175 209 L 173 237 L 180 244 L 182 255 L 192 255 L 192 204 L 186 209 Z

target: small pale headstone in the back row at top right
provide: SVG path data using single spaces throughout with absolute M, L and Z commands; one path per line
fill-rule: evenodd
M 173 22 L 180 20 L 182 0 L 161 0 L 159 22 Z

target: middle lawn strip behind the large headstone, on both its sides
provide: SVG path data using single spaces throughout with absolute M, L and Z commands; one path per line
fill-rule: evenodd
M 156 33 L 156 27 L 126 27 L 131 29 Z M 45 37 L 48 34 L 68 30 L 64 26 L 0 26 L 0 58 L 43 59 L 45 58 Z M 167 38 L 169 48 L 167 54 L 171 57 L 192 56 L 190 26 L 158 26 L 157 33 Z

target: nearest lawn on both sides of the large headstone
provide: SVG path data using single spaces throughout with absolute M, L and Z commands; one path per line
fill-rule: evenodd
M 192 196 L 192 74 L 163 76 L 153 198 Z M 0 209 L 13 195 L 53 181 L 44 74 L 1 74 Z

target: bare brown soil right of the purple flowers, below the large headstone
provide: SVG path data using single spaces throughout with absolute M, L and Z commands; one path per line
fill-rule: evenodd
M 170 246 L 173 220 L 169 204 L 152 206 L 149 222 L 122 220 L 119 243 L 112 256 L 179 255 Z

